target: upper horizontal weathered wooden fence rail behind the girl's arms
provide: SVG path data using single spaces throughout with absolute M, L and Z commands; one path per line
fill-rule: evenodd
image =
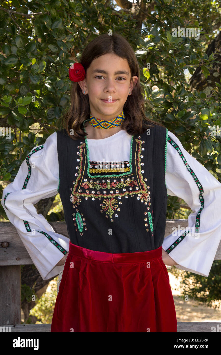
M 56 233 L 68 237 L 66 222 L 50 222 Z M 173 227 L 186 228 L 187 219 L 167 219 L 165 236 L 172 233 Z M 30 232 L 31 233 L 31 232 Z M 8 242 L 9 246 L 2 247 L 2 242 Z M 221 260 L 221 242 L 217 249 L 215 260 Z M 24 247 L 16 228 L 11 222 L 0 222 L 0 265 L 26 265 L 33 264 L 26 248 Z

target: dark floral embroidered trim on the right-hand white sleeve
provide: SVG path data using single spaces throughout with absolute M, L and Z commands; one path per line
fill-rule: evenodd
M 172 138 L 168 135 L 167 141 L 171 144 L 171 146 L 176 149 L 176 151 L 178 152 L 179 156 L 181 157 L 181 159 L 183 160 L 183 164 L 186 166 L 187 170 L 189 171 L 189 173 L 191 174 L 191 176 L 193 177 L 195 183 L 197 184 L 198 190 L 199 190 L 199 200 L 201 203 L 201 207 L 196 215 L 196 219 L 195 219 L 195 231 L 196 233 L 199 233 L 199 226 L 200 226 L 200 213 L 204 207 L 204 198 L 203 198 L 203 186 L 200 184 L 199 179 L 197 178 L 197 176 L 195 175 L 193 169 L 190 168 L 189 164 L 187 163 L 186 159 L 184 158 L 184 155 L 181 151 L 181 149 L 179 148 L 178 144 L 176 144 L 175 141 L 172 140 Z M 170 246 L 168 247 L 168 249 L 166 250 L 166 253 L 169 254 L 171 252 L 171 250 L 173 250 L 183 239 L 184 237 L 188 234 L 188 231 L 185 231 L 184 233 L 182 233 L 181 236 L 178 237 L 178 239 Z

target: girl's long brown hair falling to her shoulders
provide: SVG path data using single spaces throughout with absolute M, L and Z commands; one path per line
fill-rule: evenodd
M 150 126 L 160 125 L 159 122 L 149 120 L 145 115 L 145 95 L 140 85 L 140 69 L 134 50 L 127 40 L 118 33 L 109 35 L 104 33 L 93 39 L 87 44 L 82 52 L 81 63 L 85 72 L 92 61 L 101 55 L 112 53 L 127 59 L 131 70 L 131 80 L 134 75 L 138 77 L 136 85 L 134 85 L 132 94 L 128 95 L 123 107 L 125 120 L 121 125 L 122 130 L 126 130 L 130 135 L 143 133 Z M 62 117 L 62 126 L 66 129 L 68 135 L 73 139 L 84 139 L 83 122 L 90 117 L 90 105 L 88 95 L 82 93 L 81 87 L 77 82 L 71 83 L 71 107 Z M 73 130 L 73 135 L 70 130 Z M 87 136 L 87 133 L 86 133 Z

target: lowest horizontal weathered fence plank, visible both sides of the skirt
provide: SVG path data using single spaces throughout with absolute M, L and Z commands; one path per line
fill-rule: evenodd
M 204 333 L 217 329 L 218 322 L 177 322 L 177 333 L 186 332 L 186 333 Z M 15 326 L 0 326 L 7 327 L 2 329 L 1 331 L 7 332 L 50 332 L 51 331 L 51 324 L 16 324 Z M 11 327 L 11 329 L 9 328 Z

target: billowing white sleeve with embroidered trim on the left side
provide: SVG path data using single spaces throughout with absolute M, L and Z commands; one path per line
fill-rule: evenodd
M 34 204 L 55 196 L 59 186 L 56 132 L 32 149 L 22 162 L 13 182 L 3 190 L 1 204 L 15 226 L 29 256 L 43 280 L 60 273 L 56 264 L 69 250 L 70 239 L 55 233 Z

